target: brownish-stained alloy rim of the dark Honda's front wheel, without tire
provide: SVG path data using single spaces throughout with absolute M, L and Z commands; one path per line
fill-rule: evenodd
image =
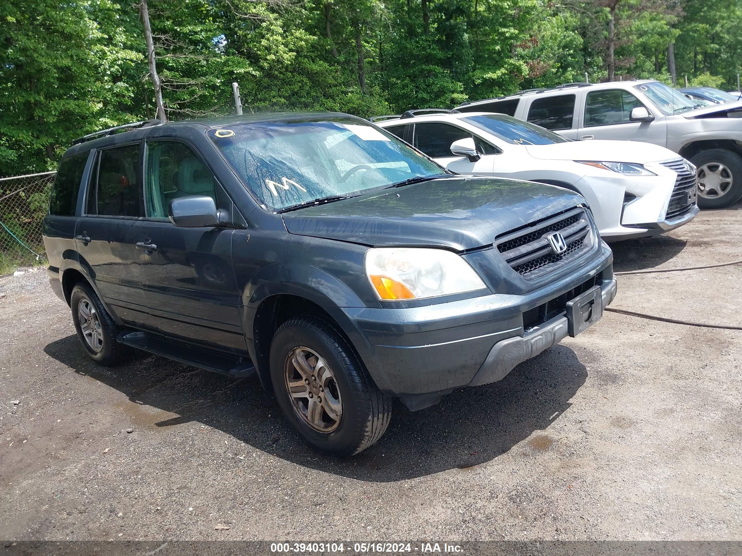
M 286 357 L 286 390 L 292 406 L 315 431 L 329 433 L 338 428 L 343 403 L 332 369 L 315 351 L 298 347 Z

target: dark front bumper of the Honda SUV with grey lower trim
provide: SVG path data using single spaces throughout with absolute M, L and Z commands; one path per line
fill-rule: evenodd
M 603 245 L 599 256 L 579 271 L 525 295 L 490 294 L 416 308 L 334 311 L 341 311 L 338 322 L 349 323 L 350 340 L 376 385 L 401 397 L 410 408 L 422 408 L 453 388 L 499 380 L 517 363 L 562 340 L 561 332 L 549 335 L 559 315 L 547 315 L 548 302 L 568 297 L 569 292 L 589 283 L 600 285 L 603 304 L 607 305 L 616 288 L 612 262 L 611 250 Z M 549 320 L 524 330 L 524 313 L 536 308 L 544 308 Z M 493 349 L 505 341 L 510 341 L 506 345 L 522 342 L 521 355 L 512 365 L 501 365 L 499 378 L 485 380 L 482 375 L 473 383 L 487 361 L 487 367 L 499 364 L 499 351 L 493 354 Z

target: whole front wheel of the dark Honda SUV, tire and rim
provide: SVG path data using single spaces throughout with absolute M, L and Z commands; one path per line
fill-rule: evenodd
M 392 400 L 329 322 L 302 315 L 280 325 L 270 368 L 281 411 L 314 448 L 347 457 L 387 430 Z

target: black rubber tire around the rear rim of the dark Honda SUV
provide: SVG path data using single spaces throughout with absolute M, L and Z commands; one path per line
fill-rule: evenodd
M 97 321 L 99 322 L 99 337 L 101 341 L 101 348 L 99 351 L 93 349 L 85 339 L 85 335 L 82 331 L 82 325 L 79 316 L 79 305 L 80 303 L 87 302 L 95 309 Z M 119 333 L 119 327 L 116 322 L 105 310 L 97 294 L 93 290 L 88 282 L 78 282 L 72 289 L 70 295 L 70 309 L 72 309 L 72 320 L 75 323 L 75 330 L 77 331 L 77 337 L 82 344 L 82 348 L 85 349 L 85 353 L 88 354 L 93 361 L 104 367 L 111 367 L 121 363 L 126 355 L 127 348 L 125 345 L 116 342 L 116 335 Z

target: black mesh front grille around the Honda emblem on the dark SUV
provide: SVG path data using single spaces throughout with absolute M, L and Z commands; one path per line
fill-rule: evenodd
M 546 239 L 557 231 L 567 244 L 566 251 L 561 254 L 555 254 Z M 592 245 L 590 231 L 585 209 L 577 207 L 503 234 L 495 239 L 495 245 L 510 268 L 523 278 L 533 280 L 588 251 Z

